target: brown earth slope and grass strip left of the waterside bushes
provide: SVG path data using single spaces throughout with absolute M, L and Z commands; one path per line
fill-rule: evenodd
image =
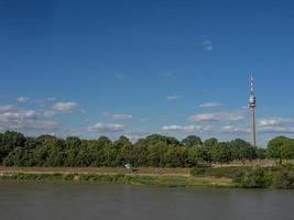
M 70 168 L 70 167 L 0 167 L 0 180 L 78 182 L 165 187 L 235 188 L 230 178 L 195 177 L 188 168 Z

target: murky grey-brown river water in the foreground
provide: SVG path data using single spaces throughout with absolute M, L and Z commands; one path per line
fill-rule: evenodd
M 0 220 L 293 220 L 294 191 L 0 182 Z

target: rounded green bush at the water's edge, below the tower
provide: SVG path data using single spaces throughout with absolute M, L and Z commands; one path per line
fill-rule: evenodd
M 272 185 L 272 175 L 261 167 L 248 169 L 243 176 L 239 177 L 239 184 L 243 188 L 268 188 Z

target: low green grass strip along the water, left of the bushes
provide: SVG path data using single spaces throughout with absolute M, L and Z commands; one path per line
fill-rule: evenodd
M 185 177 L 129 174 L 2 174 L 1 180 L 51 180 L 51 182 L 91 182 L 100 184 L 129 184 L 167 187 L 233 187 L 229 178 Z

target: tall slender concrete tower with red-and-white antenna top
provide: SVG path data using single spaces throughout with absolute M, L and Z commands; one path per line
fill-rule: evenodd
M 254 81 L 253 75 L 250 76 L 250 97 L 249 97 L 249 108 L 250 108 L 250 121 L 251 121 L 251 144 L 257 146 L 257 129 L 255 129 L 255 107 L 257 98 L 254 95 Z

